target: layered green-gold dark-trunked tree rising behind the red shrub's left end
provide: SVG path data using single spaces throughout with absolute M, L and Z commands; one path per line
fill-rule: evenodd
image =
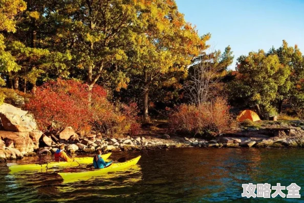
M 45 34 L 44 24 L 48 24 L 49 32 L 52 19 L 47 19 L 48 4 L 45 1 L 27 1 L 27 9 L 20 14 L 23 19 L 18 23 L 15 33 L 8 33 L 10 42 L 7 50 L 16 59 L 19 70 L 14 70 L 7 75 L 9 87 L 19 89 L 19 80 L 24 81 L 24 91 L 30 86 L 35 93 L 36 83 L 46 81 L 52 76 L 67 77 L 69 75 L 66 61 L 71 59 L 69 52 L 56 52 L 44 39 L 53 36 Z M 14 85 L 12 85 L 14 81 Z M 30 85 L 27 85 L 30 84 Z

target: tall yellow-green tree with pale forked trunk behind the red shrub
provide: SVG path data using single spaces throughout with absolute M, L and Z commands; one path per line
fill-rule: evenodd
M 71 77 L 85 80 L 90 92 L 101 77 L 114 72 L 113 76 L 120 77 L 116 82 L 125 87 L 127 79 L 120 70 L 127 66 L 125 51 L 134 40 L 134 27 L 140 24 L 141 4 L 132 0 L 56 1 L 46 9 L 45 16 L 56 31 L 47 43 L 71 53 Z

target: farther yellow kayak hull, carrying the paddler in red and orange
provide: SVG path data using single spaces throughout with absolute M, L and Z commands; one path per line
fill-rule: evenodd
M 102 154 L 102 159 L 106 160 L 111 153 Z M 11 172 L 18 171 L 29 171 L 29 170 L 41 170 L 41 169 L 49 169 L 52 167 L 75 167 L 79 166 L 79 164 L 92 164 L 93 157 L 75 157 L 74 162 L 50 162 L 46 164 L 24 164 L 24 165 L 12 165 L 9 166 Z

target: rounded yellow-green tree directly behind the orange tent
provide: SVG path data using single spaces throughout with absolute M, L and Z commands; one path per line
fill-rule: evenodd
M 262 117 L 274 114 L 278 90 L 286 84 L 291 73 L 289 66 L 282 65 L 277 55 L 267 55 L 259 50 L 240 56 L 236 71 L 235 79 L 229 84 L 230 100 L 256 105 Z

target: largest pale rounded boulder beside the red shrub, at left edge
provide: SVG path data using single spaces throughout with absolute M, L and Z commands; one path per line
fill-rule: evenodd
M 28 111 L 13 105 L 0 105 L 0 118 L 5 130 L 12 132 L 30 132 L 37 129 L 37 124 Z

